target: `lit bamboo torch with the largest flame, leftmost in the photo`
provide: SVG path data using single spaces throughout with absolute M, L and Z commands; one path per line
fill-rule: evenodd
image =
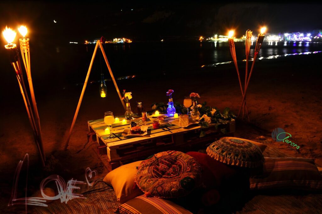
M 34 137 L 35 143 L 37 145 L 37 148 L 38 148 L 38 150 L 40 152 L 42 162 L 43 162 L 43 166 L 44 166 L 45 162 L 44 162 L 43 154 L 41 152 L 41 148 L 40 148 L 40 145 L 39 145 L 38 131 L 37 131 L 37 127 L 36 127 L 36 124 L 35 124 L 35 121 L 34 121 L 34 118 L 33 118 L 33 112 L 32 112 L 31 106 L 30 106 L 30 101 L 29 101 L 29 98 L 28 98 L 27 90 L 26 90 L 26 87 L 25 87 L 25 84 L 24 84 L 24 78 L 23 78 L 23 75 L 22 75 L 20 57 L 19 57 L 19 54 L 18 54 L 16 44 L 12 43 L 14 41 L 15 36 L 16 36 L 16 32 L 14 30 L 12 30 L 11 28 L 5 27 L 5 30 L 2 33 L 3 33 L 3 36 L 5 37 L 5 40 L 8 43 L 7 45 L 5 45 L 5 49 L 8 52 L 10 63 L 11 63 L 11 65 L 14 68 L 14 71 L 16 73 L 16 77 L 17 77 L 18 84 L 19 84 L 19 87 L 20 87 L 20 92 L 21 92 L 22 97 L 24 99 L 24 105 L 26 107 L 26 111 L 27 111 L 27 114 L 28 114 L 28 119 L 29 119 L 30 125 L 31 125 L 31 127 L 33 129 L 33 137 Z

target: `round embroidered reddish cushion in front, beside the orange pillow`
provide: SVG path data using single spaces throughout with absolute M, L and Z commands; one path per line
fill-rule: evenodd
M 201 166 L 180 151 L 164 151 L 141 162 L 135 182 L 145 193 L 159 198 L 178 198 L 199 184 Z

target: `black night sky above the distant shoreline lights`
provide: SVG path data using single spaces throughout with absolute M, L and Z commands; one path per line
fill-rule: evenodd
M 6 1 L 0 3 L 0 26 L 26 24 L 32 31 L 31 39 L 55 43 L 83 42 L 102 35 L 134 41 L 192 39 L 226 34 L 230 28 L 241 37 L 247 29 L 257 33 L 261 25 L 268 27 L 268 33 L 322 29 L 322 4 L 317 3 L 120 2 Z

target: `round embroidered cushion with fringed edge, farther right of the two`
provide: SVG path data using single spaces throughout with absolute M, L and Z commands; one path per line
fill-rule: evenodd
M 264 156 L 258 146 L 240 139 L 220 139 L 207 148 L 207 154 L 225 164 L 239 167 L 260 167 Z

